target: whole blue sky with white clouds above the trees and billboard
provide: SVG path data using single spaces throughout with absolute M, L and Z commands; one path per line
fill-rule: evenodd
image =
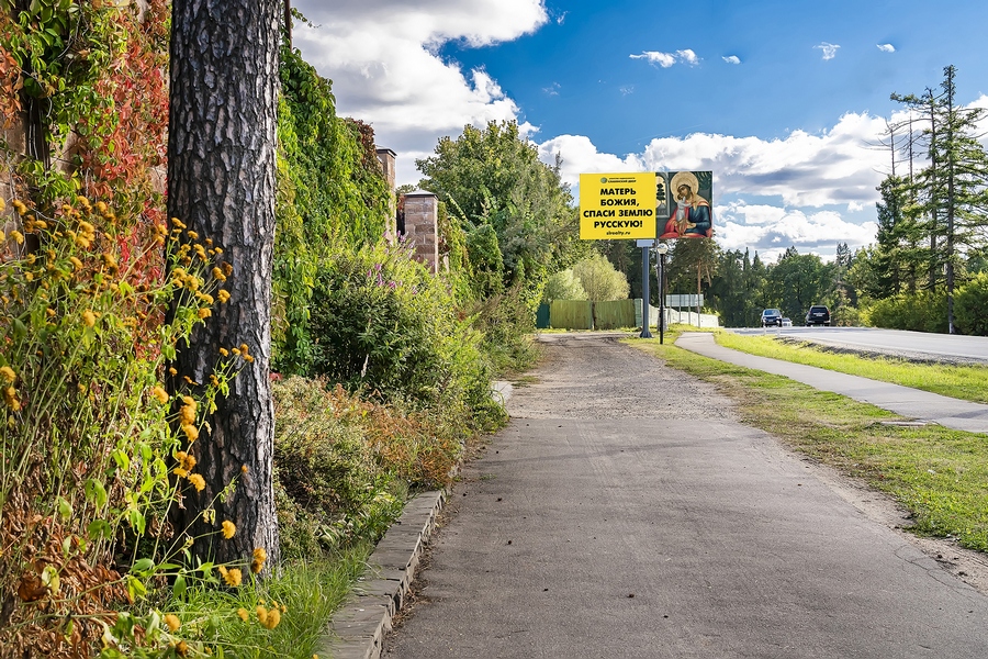
M 440 136 L 517 120 L 574 188 L 581 172 L 714 170 L 717 239 L 768 260 L 874 241 L 878 145 L 905 118 L 890 93 L 953 64 L 957 100 L 988 107 L 981 0 L 294 5 L 316 24 L 295 45 L 338 111 L 398 154 L 398 182 Z

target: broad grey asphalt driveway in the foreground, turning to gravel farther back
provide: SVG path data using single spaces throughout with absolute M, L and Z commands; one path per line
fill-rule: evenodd
M 544 338 L 385 656 L 985 656 L 988 599 L 709 387 L 615 337 Z

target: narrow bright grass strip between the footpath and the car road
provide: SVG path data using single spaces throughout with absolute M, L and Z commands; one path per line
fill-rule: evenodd
M 965 401 L 988 403 L 988 366 L 927 365 L 901 359 L 861 358 L 829 353 L 807 343 L 783 343 L 771 336 L 740 336 L 732 332 L 717 332 L 715 338 L 726 348 L 750 355 L 795 361 Z

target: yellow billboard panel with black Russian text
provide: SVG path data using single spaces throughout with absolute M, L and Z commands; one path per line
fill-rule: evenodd
M 655 172 L 581 174 L 580 239 L 655 237 Z

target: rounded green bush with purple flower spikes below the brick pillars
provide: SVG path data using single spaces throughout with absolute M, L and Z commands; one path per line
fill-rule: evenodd
M 482 335 L 407 245 L 341 248 L 316 276 L 308 372 L 476 428 L 499 418 Z

